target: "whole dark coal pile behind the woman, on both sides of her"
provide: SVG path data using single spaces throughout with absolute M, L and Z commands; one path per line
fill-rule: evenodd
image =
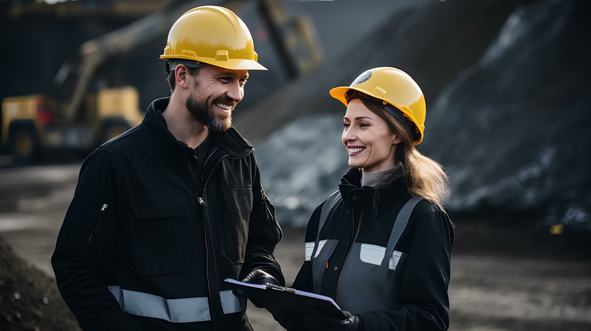
M 444 4 L 396 12 L 348 53 L 238 118 L 280 222 L 304 225 L 346 170 L 345 109 L 328 90 L 369 67 L 395 66 L 426 95 L 418 149 L 446 167 L 453 215 L 521 222 L 545 235 L 553 225 L 591 231 L 591 29 L 583 14 L 591 4 Z

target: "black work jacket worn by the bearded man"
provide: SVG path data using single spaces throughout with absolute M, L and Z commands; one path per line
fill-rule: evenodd
M 262 269 L 284 283 L 273 251 L 281 240 L 260 183 L 254 148 L 234 128 L 194 150 L 168 131 L 155 100 L 144 120 L 87 157 L 52 264 L 61 295 L 85 330 L 249 330 L 224 314 L 225 278 Z M 166 299 L 206 297 L 210 321 L 171 323 L 123 311 L 108 287 Z

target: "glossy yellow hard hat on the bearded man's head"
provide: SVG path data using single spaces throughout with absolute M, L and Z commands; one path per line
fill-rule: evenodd
M 184 59 L 235 70 L 267 70 L 257 62 L 246 24 L 230 9 L 201 6 L 184 13 L 170 28 L 160 59 Z M 181 63 L 186 63 L 183 61 Z

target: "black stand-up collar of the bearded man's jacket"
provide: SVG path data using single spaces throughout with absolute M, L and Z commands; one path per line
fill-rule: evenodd
M 181 157 L 193 155 L 193 148 L 177 140 L 168 131 L 168 126 L 162 112 L 168 106 L 169 101 L 170 97 L 154 100 L 146 111 L 142 126 L 148 129 L 150 134 L 154 135 L 158 144 L 171 154 Z M 230 158 L 241 158 L 254 151 L 254 147 L 246 139 L 242 138 L 233 126 L 230 126 L 226 131 L 209 132 L 209 134 L 212 144 L 225 151 Z

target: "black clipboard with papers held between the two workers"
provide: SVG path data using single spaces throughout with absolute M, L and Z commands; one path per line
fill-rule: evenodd
M 251 284 L 230 278 L 226 278 L 225 281 L 230 284 L 230 287 L 239 288 L 246 297 L 254 298 L 256 303 L 261 304 L 271 313 L 290 313 L 305 317 L 310 310 L 320 309 L 331 316 L 343 317 L 343 319 L 347 317 L 331 297 L 269 283 Z

